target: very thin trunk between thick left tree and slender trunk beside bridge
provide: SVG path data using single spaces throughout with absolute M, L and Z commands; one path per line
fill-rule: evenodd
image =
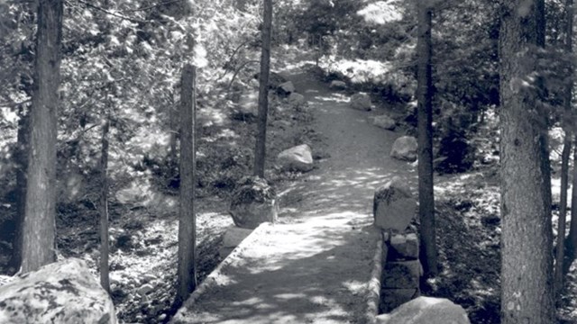
M 110 293 L 108 277 L 108 132 L 110 121 L 108 117 L 102 125 L 102 147 L 100 149 L 100 285 Z

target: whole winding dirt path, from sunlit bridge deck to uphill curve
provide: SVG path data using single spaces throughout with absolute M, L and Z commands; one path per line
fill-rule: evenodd
M 306 73 L 283 75 L 307 98 L 327 157 L 284 188 L 279 223 L 247 238 L 214 283 L 185 303 L 179 322 L 363 322 L 378 238 L 374 189 L 393 175 L 413 183 L 416 174 L 389 157 L 401 134 L 372 126 L 372 112 L 349 108 L 347 95 Z

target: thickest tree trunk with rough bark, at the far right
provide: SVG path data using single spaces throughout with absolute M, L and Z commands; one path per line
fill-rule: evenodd
M 554 322 L 553 232 L 547 120 L 538 47 L 543 0 L 503 0 L 500 49 L 501 322 Z M 535 89 L 536 88 L 536 89 Z

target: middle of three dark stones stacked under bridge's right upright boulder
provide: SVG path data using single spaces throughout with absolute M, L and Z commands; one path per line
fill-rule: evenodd
M 383 271 L 382 285 L 386 288 L 418 288 L 423 275 L 423 266 L 419 260 L 387 262 Z

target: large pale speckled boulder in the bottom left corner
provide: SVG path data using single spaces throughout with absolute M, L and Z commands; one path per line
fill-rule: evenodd
M 0 323 L 115 324 L 116 315 L 87 264 L 69 258 L 1 286 Z

